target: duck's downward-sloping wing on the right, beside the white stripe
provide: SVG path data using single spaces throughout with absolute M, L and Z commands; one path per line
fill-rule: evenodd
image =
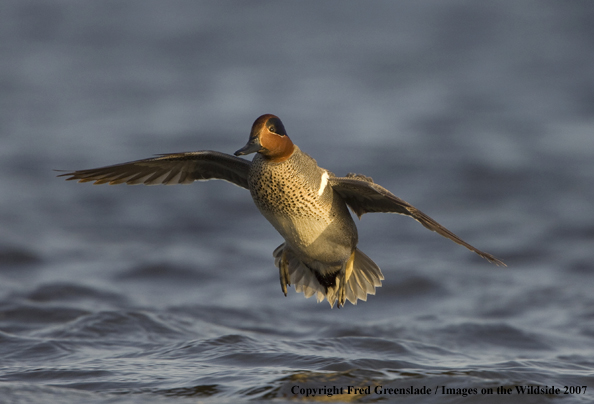
M 332 189 L 344 199 L 359 218 L 367 212 L 399 213 L 401 215 L 411 216 L 429 230 L 463 245 L 495 265 L 506 266 L 503 261 L 471 246 L 408 202 L 403 201 L 384 187 L 374 183 L 369 177 L 349 174 L 346 177 L 330 177 L 328 181 Z

